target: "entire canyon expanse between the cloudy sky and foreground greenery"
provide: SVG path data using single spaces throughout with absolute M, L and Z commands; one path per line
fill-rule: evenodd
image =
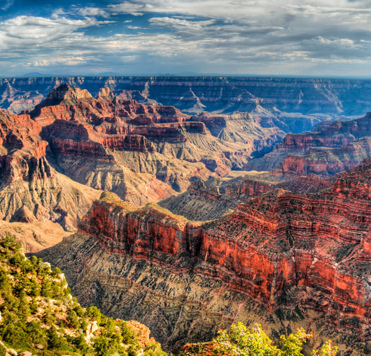
M 242 321 L 369 354 L 369 85 L 0 79 L 1 233 L 170 353 Z

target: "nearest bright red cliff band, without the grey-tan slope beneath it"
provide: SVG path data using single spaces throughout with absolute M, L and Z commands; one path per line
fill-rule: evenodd
M 102 195 L 79 229 L 98 237 L 110 253 L 154 261 L 174 273 L 191 269 L 272 311 L 295 305 L 322 311 L 344 332 L 368 337 L 370 183 L 367 158 L 331 189 L 315 194 L 276 189 L 204 223 L 156 205 L 133 210 Z M 202 186 L 192 188 L 205 190 Z

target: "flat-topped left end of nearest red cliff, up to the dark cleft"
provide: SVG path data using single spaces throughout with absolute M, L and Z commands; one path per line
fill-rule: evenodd
M 92 223 L 94 221 L 94 223 Z M 190 222 L 156 204 L 136 208 L 104 192 L 79 224 L 113 254 L 157 262 L 177 271 L 191 268 L 201 239 L 201 223 Z

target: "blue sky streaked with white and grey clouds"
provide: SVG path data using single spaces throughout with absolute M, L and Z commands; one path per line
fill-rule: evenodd
M 371 0 L 0 0 L 0 76 L 371 76 Z

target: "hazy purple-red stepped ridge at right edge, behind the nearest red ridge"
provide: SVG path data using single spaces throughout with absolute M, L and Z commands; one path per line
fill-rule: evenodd
M 313 131 L 287 134 L 253 169 L 272 169 L 276 175 L 323 177 L 353 168 L 371 155 L 371 113 L 351 121 L 322 122 Z

